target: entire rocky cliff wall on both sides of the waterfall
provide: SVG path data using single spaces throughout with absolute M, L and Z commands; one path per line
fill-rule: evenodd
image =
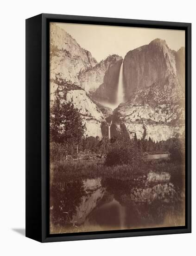
M 154 141 L 184 132 L 185 49 L 171 50 L 164 40 L 129 51 L 123 63 L 126 102 L 112 112 L 100 102 L 116 101 L 122 58 L 108 56 L 97 63 L 70 34 L 51 25 L 50 92 L 72 101 L 86 124 L 86 134 L 111 136 L 136 133 Z

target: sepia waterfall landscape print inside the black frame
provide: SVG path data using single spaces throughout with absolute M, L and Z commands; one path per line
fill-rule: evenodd
M 50 23 L 50 233 L 185 225 L 185 32 Z

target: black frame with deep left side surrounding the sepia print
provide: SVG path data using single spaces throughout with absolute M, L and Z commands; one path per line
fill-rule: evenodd
M 49 22 L 185 30 L 185 226 L 49 234 Z M 57 242 L 191 232 L 191 23 L 39 14 L 26 20 L 26 236 Z

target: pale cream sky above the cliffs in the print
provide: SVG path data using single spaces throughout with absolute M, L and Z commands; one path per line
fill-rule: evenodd
M 166 40 L 173 50 L 185 46 L 184 30 L 56 24 L 76 39 L 82 48 L 90 51 L 97 61 L 105 59 L 109 54 L 118 54 L 124 58 L 128 51 L 149 44 L 156 38 Z

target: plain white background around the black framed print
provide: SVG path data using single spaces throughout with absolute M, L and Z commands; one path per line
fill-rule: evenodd
M 195 255 L 196 8 L 194 2 L 193 0 L 1 1 L 0 255 Z M 45 244 L 21 235 L 25 228 L 25 19 L 39 13 L 192 23 L 192 234 Z

